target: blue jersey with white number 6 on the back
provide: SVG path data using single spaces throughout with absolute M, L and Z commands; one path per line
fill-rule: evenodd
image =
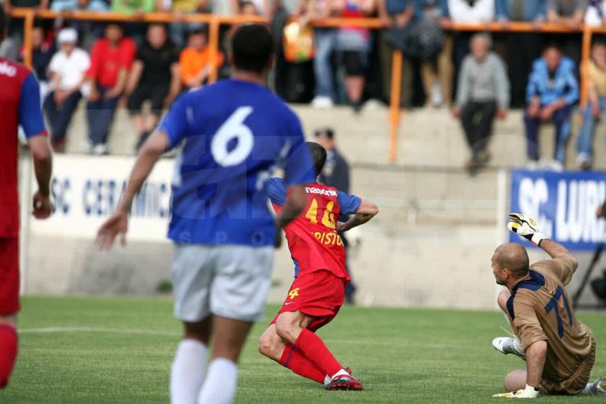
M 276 168 L 287 187 L 315 180 L 301 122 L 261 85 L 219 81 L 180 96 L 159 125 L 175 162 L 168 238 L 266 246 L 275 224 L 264 185 Z

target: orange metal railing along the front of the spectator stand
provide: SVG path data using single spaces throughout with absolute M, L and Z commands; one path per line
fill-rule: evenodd
M 122 13 L 98 13 L 87 11 L 74 12 L 53 12 L 50 10 L 38 10 L 33 8 L 13 8 L 11 11 L 13 18 L 23 18 L 24 27 L 24 64 L 32 66 L 32 30 L 35 18 L 43 19 L 76 19 L 85 21 L 130 21 L 130 22 L 174 22 L 177 17 L 173 13 L 156 12 L 146 13 L 141 16 L 127 15 Z M 179 21 L 184 22 L 202 22 L 208 24 L 208 42 L 211 50 L 209 73 L 210 82 L 216 81 L 216 58 L 219 51 L 219 28 L 221 25 L 237 25 L 245 22 L 267 23 L 267 19 L 256 16 L 221 16 L 213 14 L 190 14 L 182 16 Z M 365 27 L 365 28 L 383 28 L 381 20 L 378 18 L 327 18 L 317 21 L 311 21 L 315 27 Z M 539 26 L 531 22 L 490 22 L 484 24 L 453 24 L 453 31 L 491 31 L 491 32 L 543 32 L 543 33 L 582 33 L 582 61 L 581 61 L 581 104 L 587 102 L 587 63 L 590 58 L 591 37 L 594 33 L 606 33 L 606 27 L 582 27 L 574 30 L 565 25 L 544 23 Z M 389 161 L 395 163 L 398 151 L 398 131 L 401 122 L 401 87 L 402 87 L 402 52 L 393 51 L 392 74 L 390 88 L 390 148 Z

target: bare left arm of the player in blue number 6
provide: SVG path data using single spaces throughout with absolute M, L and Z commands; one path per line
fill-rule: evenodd
M 145 180 L 153 170 L 162 153 L 169 147 L 168 136 L 162 131 L 152 134 L 139 150 L 133 170 L 128 177 L 128 183 L 116 211 L 110 216 L 97 232 L 96 243 L 101 250 L 112 248 L 118 234 L 120 242 L 125 245 L 125 234 L 128 230 L 128 213 L 133 205 L 135 195 L 141 190 Z

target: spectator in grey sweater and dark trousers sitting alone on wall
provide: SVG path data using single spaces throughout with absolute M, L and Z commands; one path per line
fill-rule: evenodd
M 509 82 L 505 64 L 490 51 L 487 34 L 471 38 L 471 55 L 464 59 L 459 75 L 459 91 L 453 115 L 461 124 L 471 148 L 466 168 L 470 174 L 490 160 L 487 146 L 492 134 L 494 116 L 505 118 L 509 107 Z

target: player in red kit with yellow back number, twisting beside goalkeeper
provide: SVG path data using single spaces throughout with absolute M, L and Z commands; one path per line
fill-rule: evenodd
M 320 174 L 326 150 L 307 142 Z M 368 222 L 377 213 L 375 204 L 326 185 L 308 184 L 307 206 L 285 227 L 288 248 L 295 261 L 295 281 L 270 326 L 259 340 L 259 352 L 328 390 L 361 390 L 362 383 L 343 368 L 315 331 L 339 313 L 350 277 L 345 270 L 345 248 L 337 231 Z M 282 180 L 268 181 L 267 193 L 276 211 L 286 199 Z M 339 214 L 354 214 L 346 223 Z

